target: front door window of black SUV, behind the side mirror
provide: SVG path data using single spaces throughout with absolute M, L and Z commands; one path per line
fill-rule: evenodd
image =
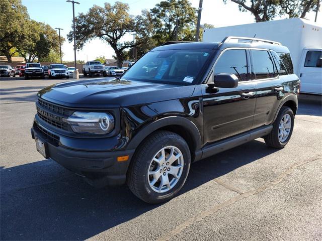
M 225 51 L 214 68 L 215 76 L 220 73 L 235 74 L 239 81 L 248 80 L 246 50 L 232 49 Z

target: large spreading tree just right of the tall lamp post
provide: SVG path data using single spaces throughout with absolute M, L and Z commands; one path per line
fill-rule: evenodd
M 121 38 L 137 30 L 135 18 L 129 15 L 129 6 L 121 2 L 114 5 L 104 4 L 104 8 L 94 5 L 88 13 L 75 18 L 76 48 L 82 49 L 88 41 L 99 38 L 107 42 L 114 50 L 118 66 L 124 60 L 124 50 L 134 46 L 133 42 L 121 42 Z M 73 39 L 72 31 L 67 36 Z

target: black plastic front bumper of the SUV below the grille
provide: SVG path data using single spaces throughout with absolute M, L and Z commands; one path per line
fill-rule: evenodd
M 89 179 L 104 178 L 106 185 L 121 185 L 126 181 L 126 172 L 130 160 L 135 150 L 120 151 L 91 151 L 91 141 L 96 139 L 87 139 L 87 150 L 75 150 L 62 146 L 59 141 L 59 134 L 54 133 L 41 126 L 36 121 L 31 129 L 33 139 L 39 139 L 45 143 L 47 158 L 51 158 L 68 170 L 88 177 Z M 67 143 L 73 145 L 75 138 L 63 137 L 68 139 Z M 129 156 L 127 161 L 117 161 L 117 157 Z

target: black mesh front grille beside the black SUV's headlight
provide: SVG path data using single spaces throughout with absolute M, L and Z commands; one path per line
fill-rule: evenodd
M 67 123 L 63 122 L 63 118 L 67 118 L 72 111 L 64 107 L 58 106 L 56 104 L 50 103 L 43 99 L 38 98 L 36 103 L 38 116 L 49 125 L 69 131 L 69 126 Z

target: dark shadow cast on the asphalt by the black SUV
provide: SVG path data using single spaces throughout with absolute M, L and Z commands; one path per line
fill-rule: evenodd
M 275 151 L 255 140 L 196 162 L 179 195 Z M 0 169 L 1 240 L 86 239 L 163 205 L 126 185 L 95 189 L 52 160 Z

